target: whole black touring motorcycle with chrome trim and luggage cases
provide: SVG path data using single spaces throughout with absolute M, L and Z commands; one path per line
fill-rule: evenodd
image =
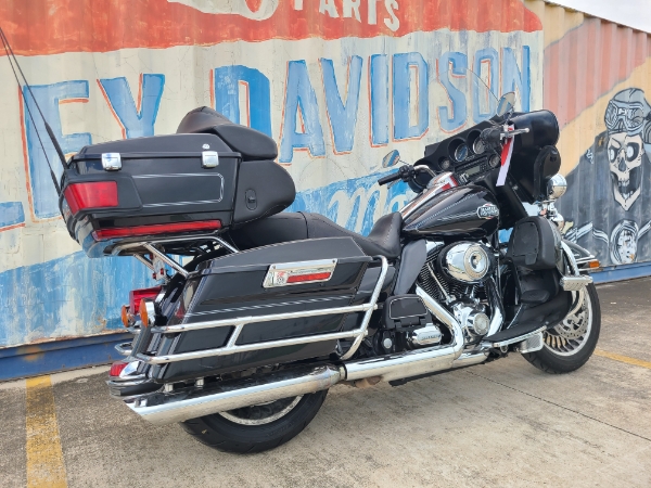
M 253 452 L 296 436 L 340 383 L 398 386 L 509 352 L 580 368 L 599 337 L 599 262 L 559 230 L 554 115 L 512 105 L 414 165 L 390 153 L 399 169 L 379 183 L 416 196 L 367 236 L 283 213 L 295 188 L 275 141 L 207 107 L 176 134 L 84 147 L 58 182 L 71 235 L 159 283 L 123 307 L 133 341 L 117 346 L 111 395 Z

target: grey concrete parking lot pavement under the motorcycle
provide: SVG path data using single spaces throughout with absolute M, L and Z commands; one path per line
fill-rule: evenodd
M 0 486 L 649 487 L 651 279 L 598 290 L 599 355 L 575 373 L 511 355 L 396 388 L 335 386 L 298 437 L 259 454 L 146 424 L 108 398 L 107 368 L 50 376 L 53 431 L 47 389 L 0 384 Z

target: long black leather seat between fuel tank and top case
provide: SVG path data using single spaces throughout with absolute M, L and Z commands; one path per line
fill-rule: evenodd
M 241 249 L 306 239 L 353 237 L 367 255 L 395 259 L 400 255 L 401 228 L 403 216 L 397 211 L 381 217 L 366 237 L 337 226 L 322 215 L 297 211 L 253 221 L 230 234 Z

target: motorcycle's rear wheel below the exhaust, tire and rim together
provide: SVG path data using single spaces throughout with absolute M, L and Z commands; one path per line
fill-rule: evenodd
M 181 423 L 200 442 L 228 452 L 260 452 L 273 449 L 298 435 L 315 418 L 328 390 L 228 412 L 192 419 Z

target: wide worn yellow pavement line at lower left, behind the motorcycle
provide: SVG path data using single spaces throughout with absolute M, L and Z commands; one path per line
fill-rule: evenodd
M 27 380 L 27 486 L 67 487 L 50 376 Z

